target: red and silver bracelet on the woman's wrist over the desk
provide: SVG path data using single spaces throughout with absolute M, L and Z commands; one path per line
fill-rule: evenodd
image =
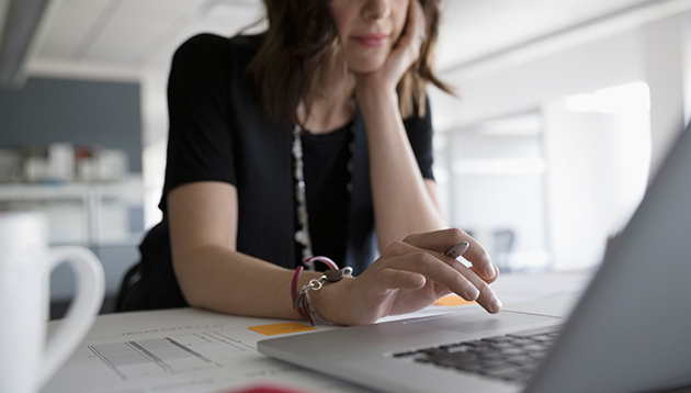
M 303 267 L 298 266 L 295 269 L 295 273 L 293 274 L 293 282 L 291 283 L 291 295 L 293 297 L 293 308 L 305 319 L 309 322 L 311 326 L 315 326 L 317 322 L 324 322 L 324 318 L 317 313 L 314 305 L 311 304 L 311 299 L 309 299 L 309 291 L 318 291 L 325 283 L 337 282 L 340 281 L 343 276 L 352 276 L 353 268 L 346 267 L 343 269 L 339 269 L 338 266 L 327 257 L 311 257 L 305 260 L 305 265 L 309 266 L 315 261 L 324 262 L 329 267 L 329 270 L 325 271 L 325 273 L 318 279 L 309 280 L 309 283 L 303 287 L 299 291 L 297 291 L 297 279 L 299 274 L 303 272 Z

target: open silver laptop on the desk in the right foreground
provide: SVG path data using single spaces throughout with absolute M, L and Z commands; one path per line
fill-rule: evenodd
M 562 301 L 272 338 L 258 350 L 396 393 L 691 385 L 691 126 L 565 317 L 554 312 Z

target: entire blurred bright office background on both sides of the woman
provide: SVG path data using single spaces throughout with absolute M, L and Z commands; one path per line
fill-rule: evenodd
M 438 70 L 458 97 L 430 96 L 451 225 L 505 272 L 596 267 L 689 120 L 691 0 L 442 4 Z M 173 50 L 261 16 L 260 0 L 0 0 L 0 210 L 92 248 L 112 300 L 160 218 Z M 55 304 L 72 280 L 53 273 Z

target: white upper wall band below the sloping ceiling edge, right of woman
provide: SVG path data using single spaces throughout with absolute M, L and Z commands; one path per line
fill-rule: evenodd
M 457 87 L 460 99 L 431 91 L 434 127 L 445 132 L 536 110 L 567 94 L 645 81 L 652 96 L 655 169 L 691 117 L 690 32 L 687 11 L 542 57 L 514 56 L 517 60 L 479 69 L 449 70 L 442 79 Z

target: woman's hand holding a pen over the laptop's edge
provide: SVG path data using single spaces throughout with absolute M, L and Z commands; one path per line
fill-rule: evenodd
M 471 268 L 443 255 L 463 242 L 469 243 L 463 256 Z M 498 276 L 473 237 L 461 229 L 444 229 L 394 243 L 362 274 L 325 285 L 313 302 L 325 319 L 341 325 L 371 324 L 387 315 L 415 312 L 452 292 L 498 313 L 501 302 L 488 285 Z

